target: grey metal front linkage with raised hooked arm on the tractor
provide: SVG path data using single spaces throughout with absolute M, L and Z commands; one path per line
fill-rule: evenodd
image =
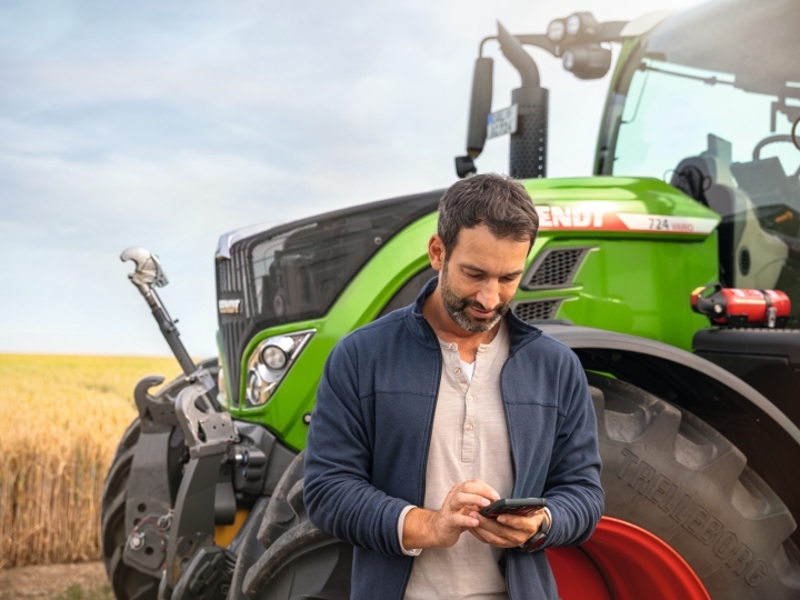
M 162 377 L 146 377 L 136 387 L 141 434 L 127 487 L 122 561 L 160 580 L 160 600 L 224 598 L 237 540 L 228 548 L 216 544 L 214 526 L 234 522 L 238 501 L 247 506 L 270 494 L 293 453 L 266 429 L 236 424 L 222 411 L 214 378 L 191 361 L 153 289 L 167 283 L 158 258 L 141 248 L 128 249 L 120 258 L 136 262 L 129 277 L 186 373 L 154 396 L 149 390 L 161 384 Z M 180 433 L 184 464 L 174 493 L 170 444 Z

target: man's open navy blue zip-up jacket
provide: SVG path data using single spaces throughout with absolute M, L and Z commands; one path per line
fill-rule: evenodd
M 422 304 L 437 282 L 433 278 L 413 304 L 343 338 L 317 391 L 306 507 L 317 527 L 356 547 L 354 600 L 401 600 L 413 566 L 400 548 L 398 519 L 403 507 L 424 500 L 442 358 Z M 552 527 L 544 547 L 581 543 L 603 510 L 586 376 L 566 346 L 511 311 L 506 319 L 510 354 L 500 380 L 513 497 L 547 498 Z M 543 552 L 507 550 L 506 559 L 511 600 L 557 599 Z

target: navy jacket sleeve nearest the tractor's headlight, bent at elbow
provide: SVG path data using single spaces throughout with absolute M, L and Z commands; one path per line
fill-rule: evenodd
M 372 432 L 359 397 L 357 364 L 348 338 L 326 363 L 306 447 L 306 508 L 313 524 L 341 540 L 402 554 L 398 519 L 408 502 L 370 484 Z

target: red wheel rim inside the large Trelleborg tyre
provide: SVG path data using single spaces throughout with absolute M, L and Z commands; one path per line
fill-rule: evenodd
M 551 548 L 547 556 L 562 600 L 711 600 L 667 542 L 611 517 L 582 546 Z

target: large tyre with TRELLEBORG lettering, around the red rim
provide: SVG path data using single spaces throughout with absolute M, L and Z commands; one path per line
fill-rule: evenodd
M 714 600 L 800 598 L 786 506 L 731 442 L 640 388 L 588 373 L 606 514 L 667 541 Z

